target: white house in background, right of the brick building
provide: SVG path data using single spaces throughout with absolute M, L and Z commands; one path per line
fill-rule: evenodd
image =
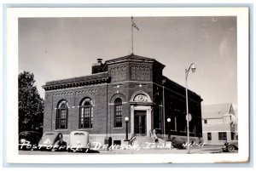
M 226 140 L 236 140 L 237 119 L 233 105 L 202 105 L 202 135 L 207 145 L 223 145 Z

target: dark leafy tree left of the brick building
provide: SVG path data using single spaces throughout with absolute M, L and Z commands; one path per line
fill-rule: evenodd
M 37 131 L 42 134 L 44 100 L 34 85 L 34 75 L 28 71 L 19 74 L 19 133 Z

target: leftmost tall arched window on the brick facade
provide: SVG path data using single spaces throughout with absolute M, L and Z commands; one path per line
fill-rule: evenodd
M 55 128 L 67 128 L 67 118 L 68 118 L 68 105 L 66 100 L 62 100 L 59 103 L 56 113 L 56 124 Z

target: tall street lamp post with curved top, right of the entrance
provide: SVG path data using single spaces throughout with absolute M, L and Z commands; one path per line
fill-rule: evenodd
M 186 76 L 186 109 L 187 109 L 187 134 L 188 134 L 188 154 L 190 153 L 190 147 L 189 147 L 189 98 L 188 98 L 188 75 L 189 75 L 189 71 L 190 69 L 192 70 L 192 72 L 195 72 L 195 64 L 192 63 L 189 66 L 189 69 L 185 69 L 185 76 Z

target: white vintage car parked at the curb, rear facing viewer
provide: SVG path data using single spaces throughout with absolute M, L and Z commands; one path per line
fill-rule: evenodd
M 68 149 L 69 152 L 75 151 L 89 151 L 89 133 L 86 131 L 73 131 L 70 133 Z

